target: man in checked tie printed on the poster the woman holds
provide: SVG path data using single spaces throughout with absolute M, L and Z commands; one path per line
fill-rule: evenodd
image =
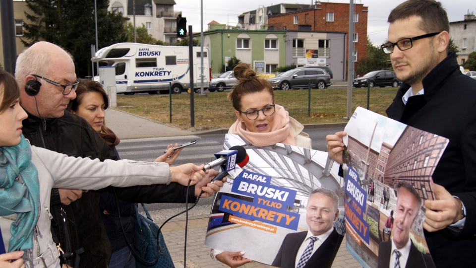
M 281 268 L 331 267 L 344 238 L 333 227 L 339 216 L 338 206 L 339 198 L 333 191 L 313 190 L 306 208 L 309 230 L 286 235 L 272 265 Z

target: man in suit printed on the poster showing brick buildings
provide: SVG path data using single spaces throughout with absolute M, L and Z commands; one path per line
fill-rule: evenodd
M 378 246 L 378 268 L 435 267 L 431 257 L 418 251 L 410 239 L 410 230 L 418 216 L 421 198 L 407 181 L 397 185 L 397 207 L 393 222 L 393 238 Z

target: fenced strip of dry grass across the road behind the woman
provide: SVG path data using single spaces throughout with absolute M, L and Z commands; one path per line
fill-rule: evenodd
M 396 88 L 371 88 L 369 110 L 385 115 L 395 97 Z M 275 91 L 275 101 L 286 108 L 301 124 L 346 122 L 347 89 L 312 89 Z M 229 128 L 236 120 L 235 110 L 227 98 L 228 92 L 206 92 L 194 95 L 195 128 L 200 130 Z M 310 107 L 309 107 L 310 100 Z M 190 128 L 190 95 L 172 95 L 172 123 L 170 123 L 169 95 L 118 95 L 119 110 L 170 124 L 180 129 Z M 367 108 L 367 89 L 354 88 L 352 111 L 357 106 Z M 309 116 L 310 114 L 310 116 Z

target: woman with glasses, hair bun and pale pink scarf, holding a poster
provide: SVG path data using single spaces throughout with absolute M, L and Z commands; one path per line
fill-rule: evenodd
M 304 127 L 290 117 L 283 106 L 274 103 L 273 87 L 268 81 L 258 77 L 245 63 L 238 64 L 233 72 L 238 84 L 228 98 L 238 120 L 230 128 L 229 134 L 238 134 L 258 147 L 285 143 L 311 148 L 309 135 L 302 132 Z M 243 254 L 212 250 L 212 255 L 218 261 L 232 268 L 251 262 L 241 257 Z

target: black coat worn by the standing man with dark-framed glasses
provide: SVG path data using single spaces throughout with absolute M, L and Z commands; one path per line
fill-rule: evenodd
M 466 77 L 465 77 L 466 76 Z M 450 140 L 433 173 L 433 181 L 466 206 L 462 230 L 447 227 L 426 232 L 438 267 L 476 267 L 476 80 L 461 73 L 456 54 L 450 54 L 423 78 L 424 94 L 402 96 L 403 83 L 387 109 L 389 118 Z

